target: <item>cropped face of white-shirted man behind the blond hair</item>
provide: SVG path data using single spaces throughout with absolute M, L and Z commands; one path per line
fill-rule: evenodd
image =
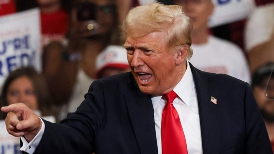
M 183 7 L 183 11 L 192 20 L 194 32 L 207 28 L 208 19 L 214 10 L 211 0 L 174 0 L 174 4 Z

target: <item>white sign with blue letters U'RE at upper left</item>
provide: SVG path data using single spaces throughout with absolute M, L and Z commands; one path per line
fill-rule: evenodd
M 0 16 L 0 89 L 14 69 L 32 65 L 41 70 L 38 8 Z

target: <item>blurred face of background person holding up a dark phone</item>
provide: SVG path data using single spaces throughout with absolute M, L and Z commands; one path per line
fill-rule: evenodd
M 116 9 L 113 0 L 78 0 L 78 2 L 87 2 L 83 3 L 84 7 L 81 7 L 83 9 L 77 11 L 75 5 L 71 10 L 72 29 L 81 38 L 94 34 L 108 34 L 113 30 L 113 27 L 116 26 L 116 16 L 114 15 Z M 91 3 L 95 5 L 91 5 Z M 87 14 L 93 14 L 94 16 L 90 16 L 92 18 L 94 17 L 94 19 L 79 19 L 79 17 L 83 18 L 82 16 L 86 16 Z M 96 24 L 93 20 L 96 20 L 98 26 L 95 26 Z M 90 26 L 92 30 L 89 30 L 88 26 Z

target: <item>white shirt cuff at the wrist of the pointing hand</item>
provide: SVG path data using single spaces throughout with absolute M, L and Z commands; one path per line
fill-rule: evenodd
M 24 137 L 20 137 L 23 146 L 20 148 L 20 151 L 26 152 L 28 154 L 33 154 L 35 152 L 35 149 L 37 148 L 37 146 L 39 145 L 42 136 L 44 134 L 44 130 L 45 130 L 45 124 L 42 121 L 42 119 L 40 118 L 41 122 L 42 122 L 42 127 L 41 130 L 37 133 L 37 135 L 28 143 Z

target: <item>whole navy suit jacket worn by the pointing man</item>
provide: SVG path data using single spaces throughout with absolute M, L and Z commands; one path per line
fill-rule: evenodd
M 203 154 L 273 154 L 249 84 L 190 67 Z M 131 72 L 94 81 L 75 113 L 60 124 L 44 122 L 36 154 L 158 154 L 151 98 Z

